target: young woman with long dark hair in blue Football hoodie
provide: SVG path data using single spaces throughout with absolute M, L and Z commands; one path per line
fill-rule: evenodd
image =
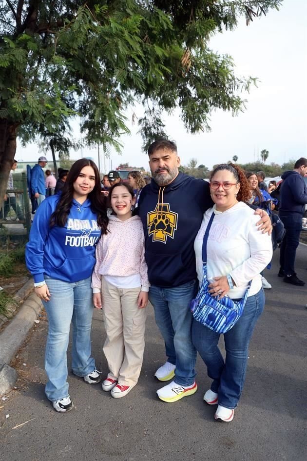
M 96 243 L 108 224 L 100 178 L 92 160 L 77 160 L 62 194 L 39 206 L 26 245 L 35 293 L 48 315 L 47 398 L 58 412 L 73 408 L 67 382 L 67 347 L 73 323 L 72 370 L 89 384 L 100 381 L 91 357 L 91 276 Z

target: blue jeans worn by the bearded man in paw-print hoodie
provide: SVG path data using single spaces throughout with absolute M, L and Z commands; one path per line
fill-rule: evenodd
M 149 289 L 149 301 L 153 304 L 155 321 L 165 342 L 166 356 L 176 365 L 174 381 L 182 386 L 193 384 L 196 375 L 190 311 L 190 301 L 196 293 L 195 280 L 173 288 L 151 286 Z

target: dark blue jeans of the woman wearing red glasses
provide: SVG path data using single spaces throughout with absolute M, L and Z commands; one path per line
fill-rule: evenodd
M 250 296 L 242 317 L 224 334 L 226 361 L 218 348 L 219 333 L 193 320 L 192 341 L 213 380 L 211 391 L 218 394 L 218 404 L 236 408 L 240 399 L 248 361 L 249 341 L 265 305 L 263 289 Z

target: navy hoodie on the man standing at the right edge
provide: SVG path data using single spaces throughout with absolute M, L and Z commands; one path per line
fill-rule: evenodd
M 303 216 L 307 203 L 307 187 L 297 171 L 286 171 L 282 175 L 279 212 L 299 213 Z

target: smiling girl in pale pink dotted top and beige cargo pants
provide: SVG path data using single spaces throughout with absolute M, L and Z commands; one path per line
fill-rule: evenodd
M 135 386 L 141 371 L 150 284 L 143 226 L 138 216 L 132 216 L 134 191 L 118 182 L 109 198 L 116 216 L 110 216 L 108 232 L 98 242 L 92 287 L 94 305 L 104 312 L 107 334 L 103 352 L 109 373 L 102 389 L 119 399 Z

